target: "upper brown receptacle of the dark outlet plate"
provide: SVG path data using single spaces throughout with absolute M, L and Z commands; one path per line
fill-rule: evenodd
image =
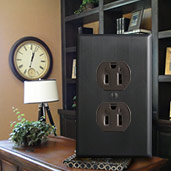
M 102 62 L 97 69 L 97 82 L 104 90 L 125 90 L 130 80 L 131 70 L 125 62 Z

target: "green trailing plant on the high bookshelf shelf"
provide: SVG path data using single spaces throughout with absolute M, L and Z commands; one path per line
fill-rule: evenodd
M 99 0 L 83 0 L 80 8 L 74 14 L 80 14 L 83 11 L 90 10 L 98 4 Z

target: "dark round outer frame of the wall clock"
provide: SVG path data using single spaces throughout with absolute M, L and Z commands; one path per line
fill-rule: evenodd
M 16 55 L 16 50 L 18 49 L 18 47 L 23 44 L 24 42 L 29 42 L 29 41 L 33 41 L 39 45 L 41 45 L 45 50 L 46 53 L 48 54 L 49 57 L 49 66 L 48 69 L 46 71 L 46 73 L 41 77 L 41 79 L 45 79 L 49 76 L 49 74 L 52 71 L 52 63 L 53 63 L 53 59 L 52 59 L 52 53 L 49 49 L 49 47 L 45 44 L 45 42 L 43 42 L 42 40 L 36 38 L 36 37 L 32 37 L 32 36 L 28 36 L 28 37 L 23 37 L 21 39 L 19 39 L 18 41 L 16 41 L 14 43 L 14 45 L 12 46 L 11 50 L 10 50 L 10 54 L 9 54 L 9 64 L 10 64 L 10 68 L 13 72 L 13 74 L 20 80 L 20 81 L 25 81 L 25 80 L 35 80 L 35 79 L 28 79 L 23 77 L 23 75 L 17 70 L 16 66 L 15 66 L 15 55 Z

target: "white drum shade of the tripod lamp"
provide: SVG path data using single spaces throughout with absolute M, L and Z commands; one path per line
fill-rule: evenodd
M 24 81 L 24 103 L 48 103 L 58 101 L 55 79 Z

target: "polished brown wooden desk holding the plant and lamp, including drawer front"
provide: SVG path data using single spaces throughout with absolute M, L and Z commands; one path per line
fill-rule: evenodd
M 14 144 L 0 141 L 0 171 L 87 171 L 68 168 L 63 161 L 74 154 L 76 142 L 65 137 L 49 137 L 37 147 L 14 148 Z M 165 170 L 167 160 L 159 157 L 136 158 L 128 171 Z M 90 170 L 94 171 L 94 170 Z

